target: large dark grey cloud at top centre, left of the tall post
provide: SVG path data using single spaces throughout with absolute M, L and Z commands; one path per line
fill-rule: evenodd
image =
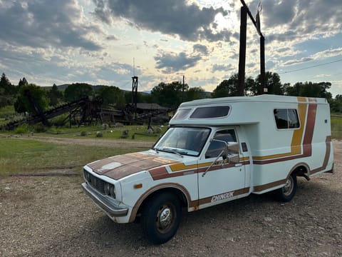
M 227 29 L 217 31 L 214 19 L 217 14 L 227 16 L 222 7 L 199 7 L 184 0 L 93 0 L 95 16 L 106 24 L 115 19 L 130 26 L 162 34 L 178 35 L 185 41 L 229 41 L 232 33 Z

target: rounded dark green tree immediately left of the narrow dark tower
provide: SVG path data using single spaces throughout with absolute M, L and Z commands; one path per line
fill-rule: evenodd
M 96 94 L 103 100 L 103 106 L 109 104 L 115 105 L 115 108 L 123 109 L 125 107 L 125 96 L 123 91 L 116 86 L 103 86 Z

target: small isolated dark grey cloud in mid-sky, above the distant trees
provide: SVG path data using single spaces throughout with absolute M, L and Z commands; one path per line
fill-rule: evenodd
M 155 67 L 162 69 L 162 72 L 165 74 L 171 74 L 189 69 L 195 66 L 201 59 L 199 55 L 187 56 L 185 52 L 181 52 L 180 54 L 161 52 L 155 56 Z

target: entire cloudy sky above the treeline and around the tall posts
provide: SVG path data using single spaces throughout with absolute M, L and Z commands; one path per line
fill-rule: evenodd
M 259 0 L 245 0 L 255 17 Z M 237 73 L 239 0 L 0 0 L 0 73 L 11 84 L 88 83 L 149 91 L 182 81 L 213 91 Z M 266 71 L 342 94 L 342 1 L 262 0 Z M 260 72 L 247 21 L 246 76 Z

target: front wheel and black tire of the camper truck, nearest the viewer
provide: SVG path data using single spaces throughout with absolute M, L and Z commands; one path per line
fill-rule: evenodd
M 180 226 L 179 198 L 169 192 L 152 196 L 142 209 L 142 232 L 155 244 L 169 241 Z

